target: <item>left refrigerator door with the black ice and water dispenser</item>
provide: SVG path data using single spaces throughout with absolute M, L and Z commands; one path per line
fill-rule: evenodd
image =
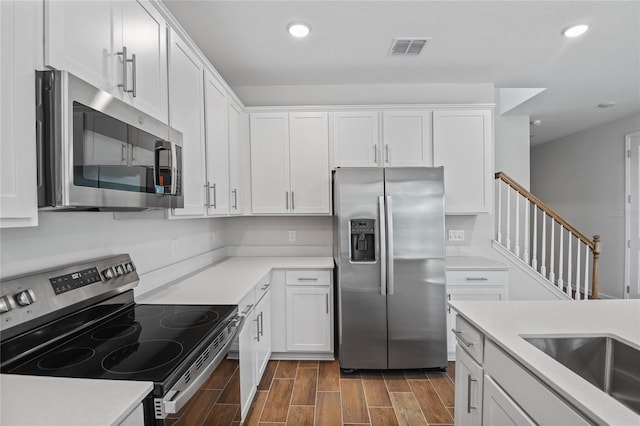
M 386 283 L 381 281 L 385 272 L 381 269 L 384 256 L 380 244 L 384 220 L 380 221 L 379 205 L 384 195 L 383 171 L 338 168 L 333 194 L 340 367 L 384 369 L 387 368 L 387 302 Z M 351 233 L 357 228 L 352 227 L 352 219 L 375 220 L 373 260 L 369 257 L 351 260 Z

